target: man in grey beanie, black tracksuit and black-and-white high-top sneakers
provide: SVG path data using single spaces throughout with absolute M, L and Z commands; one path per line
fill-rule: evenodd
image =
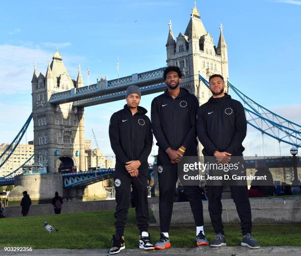
M 116 156 L 116 234 L 110 254 L 117 254 L 125 248 L 124 226 L 130 206 L 131 185 L 136 205 L 136 218 L 140 229 L 139 248 L 153 250 L 149 228 L 148 180 L 150 171 L 148 157 L 151 154 L 151 121 L 145 115 L 147 110 L 138 106 L 141 92 L 137 86 L 126 90 L 126 104 L 114 113 L 110 120 L 109 136 L 111 147 Z

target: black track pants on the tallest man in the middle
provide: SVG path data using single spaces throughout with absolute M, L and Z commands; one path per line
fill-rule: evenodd
M 178 180 L 178 164 L 172 164 L 165 154 L 158 154 L 159 214 L 161 232 L 168 232 Z M 199 186 L 184 186 L 196 226 L 204 225 L 202 193 Z

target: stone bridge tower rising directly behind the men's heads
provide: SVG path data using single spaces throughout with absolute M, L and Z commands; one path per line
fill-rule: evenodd
M 199 81 L 198 72 L 207 79 L 215 73 L 221 74 L 225 81 L 229 78 L 228 48 L 223 35 L 223 27 L 220 26 L 219 40 L 215 46 L 213 38 L 203 25 L 195 1 L 187 28 L 184 34 L 179 33 L 177 40 L 172 31 L 172 23 L 169 22 L 166 51 L 167 65 L 176 65 L 181 68 L 183 72 L 181 87 L 194 93 L 200 105 L 208 101 L 211 92 Z M 228 87 L 226 92 L 228 92 Z

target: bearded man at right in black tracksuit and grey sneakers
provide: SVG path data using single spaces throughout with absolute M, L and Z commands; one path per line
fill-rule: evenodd
M 244 150 L 242 141 L 246 136 L 246 118 L 241 103 L 224 93 L 225 83 L 221 75 L 214 74 L 209 78 L 212 97 L 201 105 L 197 112 L 197 133 L 204 146 L 203 155 L 216 158 L 219 163 L 229 163 L 231 157 L 241 157 Z M 242 159 L 243 160 L 243 159 Z M 235 160 L 234 160 L 235 161 Z M 242 168 L 244 168 L 242 166 Z M 212 170 L 210 170 L 212 171 Z M 216 172 L 216 170 L 213 172 Z M 213 173 L 211 172 L 211 174 Z M 241 171 L 241 173 L 245 171 Z M 214 173 L 213 173 L 214 175 Z M 241 219 L 242 246 L 259 248 L 259 243 L 251 237 L 251 207 L 247 186 L 232 186 L 232 197 Z M 222 196 L 223 186 L 209 186 L 209 213 L 215 239 L 210 246 L 225 246 L 224 226 L 222 224 Z

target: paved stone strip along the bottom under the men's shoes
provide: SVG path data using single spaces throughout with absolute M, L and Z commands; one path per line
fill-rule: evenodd
M 0 255 L 16 256 L 107 256 L 108 249 L 44 249 L 33 250 L 32 252 L 4 252 Z M 198 247 L 198 248 L 169 248 L 167 250 L 143 251 L 139 249 L 122 250 L 119 256 L 301 256 L 301 247 L 261 247 L 256 250 L 242 246 L 227 246 L 222 248 Z

